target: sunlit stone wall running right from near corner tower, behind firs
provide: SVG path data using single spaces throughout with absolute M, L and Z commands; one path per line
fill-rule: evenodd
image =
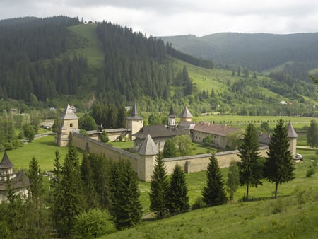
M 268 149 L 269 147 L 267 146 L 259 148 L 261 157 L 267 156 L 266 151 Z M 219 167 L 227 168 L 231 161 L 240 161 L 241 159 L 239 156 L 237 156 L 237 153 L 239 153 L 238 150 L 215 153 Z M 194 156 L 164 158 L 163 161 L 165 162 L 165 166 L 167 168 L 167 174 L 170 175 L 173 173 L 173 168 L 175 167 L 176 163 L 181 166 L 185 173 L 194 173 L 206 170 L 208 163 L 210 162 L 210 158 L 211 153 L 206 153 Z

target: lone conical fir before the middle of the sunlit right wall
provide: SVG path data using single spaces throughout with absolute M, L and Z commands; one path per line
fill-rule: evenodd
M 208 163 L 206 177 L 206 186 L 202 190 L 204 203 L 207 206 L 225 204 L 227 198 L 224 189 L 224 181 L 214 153 L 211 155 L 210 163 Z

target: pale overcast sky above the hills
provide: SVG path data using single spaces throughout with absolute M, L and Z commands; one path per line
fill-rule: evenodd
M 0 18 L 70 16 L 147 35 L 318 32 L 314 0 L 0 0 Z

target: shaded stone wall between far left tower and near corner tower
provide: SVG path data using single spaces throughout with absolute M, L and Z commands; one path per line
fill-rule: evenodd
M 76 146 L 76 148 L 81 148 L 83 151 L 88 151 L 89 153 L 95 153 L 97 155 L 105 156 L 105 158 L 111 159 L 113 161 L 122 158 L 131 162 L 132 167 L 137 172 L 138 170 L 138 155 L 129 153 L 120 148 L 114 148 L 113 146 L 102 143 L 101 141 L 90 139 L 87 136 L 83 136 L 76 132 L 72 132 L 71 141 Z

